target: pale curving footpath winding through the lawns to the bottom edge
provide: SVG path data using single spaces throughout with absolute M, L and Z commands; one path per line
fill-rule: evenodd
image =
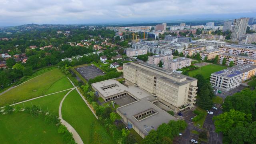
M 74 90 L 76 88 L 72 88 L 72 90 Z M 60 122 L 67 127 L 68 131 L 71 132 L 73 134 L 73 138 L 76 141 L 76 143 L 78 144 L 84 144 L 84 142 L 82 141 L 81 137 L 79 136 L 79 134 L 76 132 L 76 130 L 65 120 L 63 120 L 62 118 L 62 114 L 61 114 L 61 108 L 62 108 L 62 103 L 65 100 L 66 96 L 68 96 L 68 94 L 72 91 L 70 90 L 65 96 L 64 98 L 62 98 L 61 102 L 60 102 L 60 106 L 59 106 L 59 118 L 60 118 Z

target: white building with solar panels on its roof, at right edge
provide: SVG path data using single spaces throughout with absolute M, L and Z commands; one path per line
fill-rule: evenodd
M 227 92 L 255 75 L 256 66 L 251 64 L 239 64 L 232 68 L 212 73 L 210 83 L 214 88 Z

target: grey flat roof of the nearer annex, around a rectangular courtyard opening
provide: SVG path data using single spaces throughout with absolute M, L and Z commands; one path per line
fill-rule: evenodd
M 166 111 L 158 108 L 155 104 L 150 101 L 156 100 L 154 96 L 148 96 L 117 108 L 117 110 L 122 113 L 132 125 L 136 126 L 144 135 L 148 135 L 149 131 L 154 129 L 157 130 L 158 126 L 163 123 L 168 123 L 170 120 L 176 120 L 176 118 Z M 137 120 L 134 115 L 144 112 L 149 109 L 153 109 L 156 113 L 152 114 L 144 119 Z

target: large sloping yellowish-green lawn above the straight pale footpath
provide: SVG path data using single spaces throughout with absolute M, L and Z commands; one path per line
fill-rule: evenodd
M 65 77 L 59 69 L 45 72 L 0 95 L 0 106 L 72 88 L 73 86 Z

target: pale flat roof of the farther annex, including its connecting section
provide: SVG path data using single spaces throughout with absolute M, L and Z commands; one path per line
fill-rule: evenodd
M 116 86 L 112 87 L 112 88 L 107 88 L 107 89 L 102 89 L 102 87 L 104 86 L 110 86 L 116 84 Z M 151 96 L 150 93 L 146 92 L 145 90 L 142 90 L 140 88 L 138 88 L 137 86 L 129 86 L 126 87 L 123 84 L 121 84 L 120 82 L 118 82 L 117 80 L 114 79 L 110 79 L 110 80 L 104 80 L 101 82 L 96 82 L 91 84 L 94 88 L 96 88 L 98 90 L 98 92 L 100 94 L 102 94 L 104 97 L 108 97 L 108 96 L 112 96 L 114 94 L 118 94 L 120 92 L 129 92 L 130 94 L 132 94 L 133 96 L 135 96 L 137 99 L 142 99 L 145 98 L 147 96 Z

